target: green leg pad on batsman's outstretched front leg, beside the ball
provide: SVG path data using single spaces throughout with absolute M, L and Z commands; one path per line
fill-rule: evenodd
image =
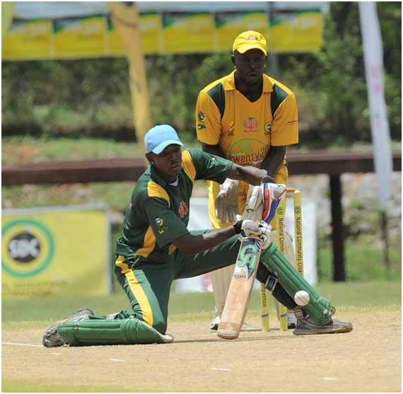
M 329 310 L 329 300 L 317 294 L 313 287 L 288 262 L 283 253 L 277 249 L 274 242 L 270 244 L 269 248 L 262 251 L 260 260 L 269 271 L 276 272 L 281 286 L 292 298 L 300 290 L 305 290 L 309 294 L 309 303 L 301 308 L 307 311 L 317 324 L 329 323 L 332 318 L 332 313 Z

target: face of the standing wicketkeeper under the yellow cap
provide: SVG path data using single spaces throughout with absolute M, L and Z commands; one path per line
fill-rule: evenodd
M 231 59 L 236 67 L 236 81 L 250 87 L 262 81 L 267 56 L 261 50 L 254 49 L 245 53 L 235 51 Z

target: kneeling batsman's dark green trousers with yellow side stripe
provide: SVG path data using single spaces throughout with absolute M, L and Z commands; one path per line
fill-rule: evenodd
M 211 231 L 216 230 L 191 231 L 191 233 L 197 235 Z M 168 262 L 160 264 L 139 261 L 133 265 L 133 257 L 130 261 L 131 259 L 122 260 L 122 256 L 117 255 L 116 259 L 120 260 L 119 265 L 115 265 L 115 274 L 129 297 L 134 318 L 144 321 L 161 334 L 165 334 L 173 281 L 196 277 L 233 265 L 238 257 L 239 248 L 238 236 L 233 236 L 221 245 L 197 255 L 187 256 L 176 249 L 170 255 Z M 259 264 L 257 280 L 265 282 L 269 274 L 267 267 Z M 295 301 L 280 285 L 274 289 L 273 296 L 287 308 L 292 309 L 296 306 Z M 127 317 L 127 311 L 125 312 L 124 315 Z

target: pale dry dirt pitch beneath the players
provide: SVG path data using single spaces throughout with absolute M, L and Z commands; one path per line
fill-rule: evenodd
M 205 323 L 170 323 L 172 344 L 42 347 L 42 330 L 2 331 L 2 383 L 60 392 L 402 392 L 402 313 L 337 314 L 348 334 L 261 332 L 247 316 L 240 338 Z M 4 392 L 4 391 L 3 391 Z

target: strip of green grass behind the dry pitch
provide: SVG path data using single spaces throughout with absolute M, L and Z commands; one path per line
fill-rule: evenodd
M 401 282 L 344 282 L 322 283 L 315 286 L 321 296 L 329 299 L 337 310 L 348 308 L 381 308 L 395 310 L 402 304 Z M 274 313 L 274 303 L 271 304 Z M 96 315 L 106 315 L 129 309 L 130 305 L 122 289 L 112 296 L 45 297 L 1 301 L 1 327 L 3 330 L 45 328 L 56 320 L 66 318 L 78 308 L 91 308 Z M 248 313 L 259 315 L 260 296 L 252 291 Z M 212 293 L 177 293 L 170 296 L 168 322 L 199 320 L 209 322 L 214 317 Z

